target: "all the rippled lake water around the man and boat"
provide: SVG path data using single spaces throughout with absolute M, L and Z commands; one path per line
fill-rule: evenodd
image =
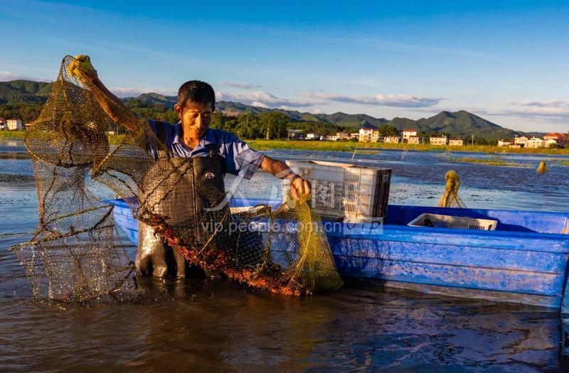
M 37 224 L 33 168 L 24 152 L 21 141 L 0 141 L 1 372 L 565 369 L 561 316 L 528 306 L 354 284 L 336 293 L 288 298 L 208 279 L 144 279 L 145 295 L 120 304 L 86 307 L 35 300 L 7 250 L 29 239 Z M 328 161 L 352 156 L 269 153 Z M 539 175 L 535 168 L 544 156 L 504 156 L 510 157 L 531 166 L 459 164 L 447 161 L 444 153 L 412 151 L 356 154 L 353 161 L 393 168 L 391 203 L 434 205 L 445 172 L 454 169 L 462 177 L 461 197 L 468 207 L 569 210 L 569 167 L 552 164 L 550 173 Z M 233 181 L 228 178 L 228 185 Z M 110 197 L 104 188 L 96 190 Z M 249 197 L 278 198 L 281 186 L 259 173 L 239 190 Z M 134 255 L 134 247 L 129 254 Z

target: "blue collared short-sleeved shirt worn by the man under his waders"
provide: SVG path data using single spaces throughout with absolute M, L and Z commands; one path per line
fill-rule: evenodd
M 156 134 L 156 121 L 149 119 L 148 123 Z M 260 167 L 262 159 L 265 158 L 265 154 L 253 150 L 237 136 L 220 129 L 208 129 L 195 148 L 188 148 L 180 133 L 181 122 L 169 124 L 163 121 L 161 123 L 164 124 L 166 131 L 166 136 L 164 136 L 166 146 L 175 156 L 184 158 L 209 156 L 209 150 L 206 146 L 216 144 L 220 156 L 225 158 L 225 171 L 248 180 Z

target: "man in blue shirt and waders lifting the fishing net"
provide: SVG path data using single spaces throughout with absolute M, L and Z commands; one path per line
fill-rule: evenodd
M 109 99 L 118 105 L 121 112 L 128 112 L 122 101 L 107 90 L 98 79 L 94 69 L 92 69 L 90 78 Z M 178 91 L 178 100 L 174 105 L 180 121 L 176 124 L 168 124 L 163 121 L 149 120 L 149 126 L 158 139 L 166 145 L 169 158 L 209 157 L 215 153 L 217 159 L 219 156 L 223 158 L 222 169 L 225 173 L 250 179 L 255 171 L 261 168 L 277 178 L 290 179 L 292 198 L 298 200 L 299 195 L 310 193 L 310 183 L 292 172 L 286 163 L 253 150 L 233 134 L 219 129 L 211 129 L 210 124 L 215 107 L 216 96 L 211 85 L 206 82 L 191 80 L 181 85 Z M 111 109 L 109 109 L 108 114 L 113 117 Z M 127 126 L 128 124 L 124 125 Z M 154 158 L 159 158 L 159 149 L 150 148 L 149 151 Z M 211 176 L 212 180 L 215 179 L 213 174 Z M 220 183 L 221 188 L 218 189 L 223 189 L 223 180 L 220 180 Z M 213 192 L 214 190 L 211 190 L 211 193 Z M 192 201 L 188 202 L 191 204 Z M 195 202 L 193 201 L 193 203 Z M 154 236 L 151 227 L 141 222 L 139 224 L 139 248 L 136 260 L 137 271 L 141 274 L 150 274 L 151 272 L 154 276 L 159 277 L 172 273 L 174 269 L 166 263 L 166 251 L 167 247 L 164 242 Z M 176 275 L 184 277 L 186 275 L 184 258 L 176 250 L 174 250 L 174 256 L 176 259 Z

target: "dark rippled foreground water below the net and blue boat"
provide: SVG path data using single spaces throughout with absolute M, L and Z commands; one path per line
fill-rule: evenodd
M 536 308 L 365 286 L 312 298 L 272 296 L 204 279 L 147 286 L 138 301 L 90 308 L 5 298 L 0 312 L 10 328 L 0 338 L 11 343 L 0 347 L 0 369 L 543 372 L 565 367 L 560 316 Z

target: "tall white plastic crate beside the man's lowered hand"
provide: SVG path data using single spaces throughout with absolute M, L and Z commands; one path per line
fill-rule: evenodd
M 391 170 L 319 161 L 287 161 L 287 165 L 312 184 L 312 208 L 323 217 L 346 222 L 366 222 L 387 211 Z M 283 199 L 290 181 L 285 180 Z

